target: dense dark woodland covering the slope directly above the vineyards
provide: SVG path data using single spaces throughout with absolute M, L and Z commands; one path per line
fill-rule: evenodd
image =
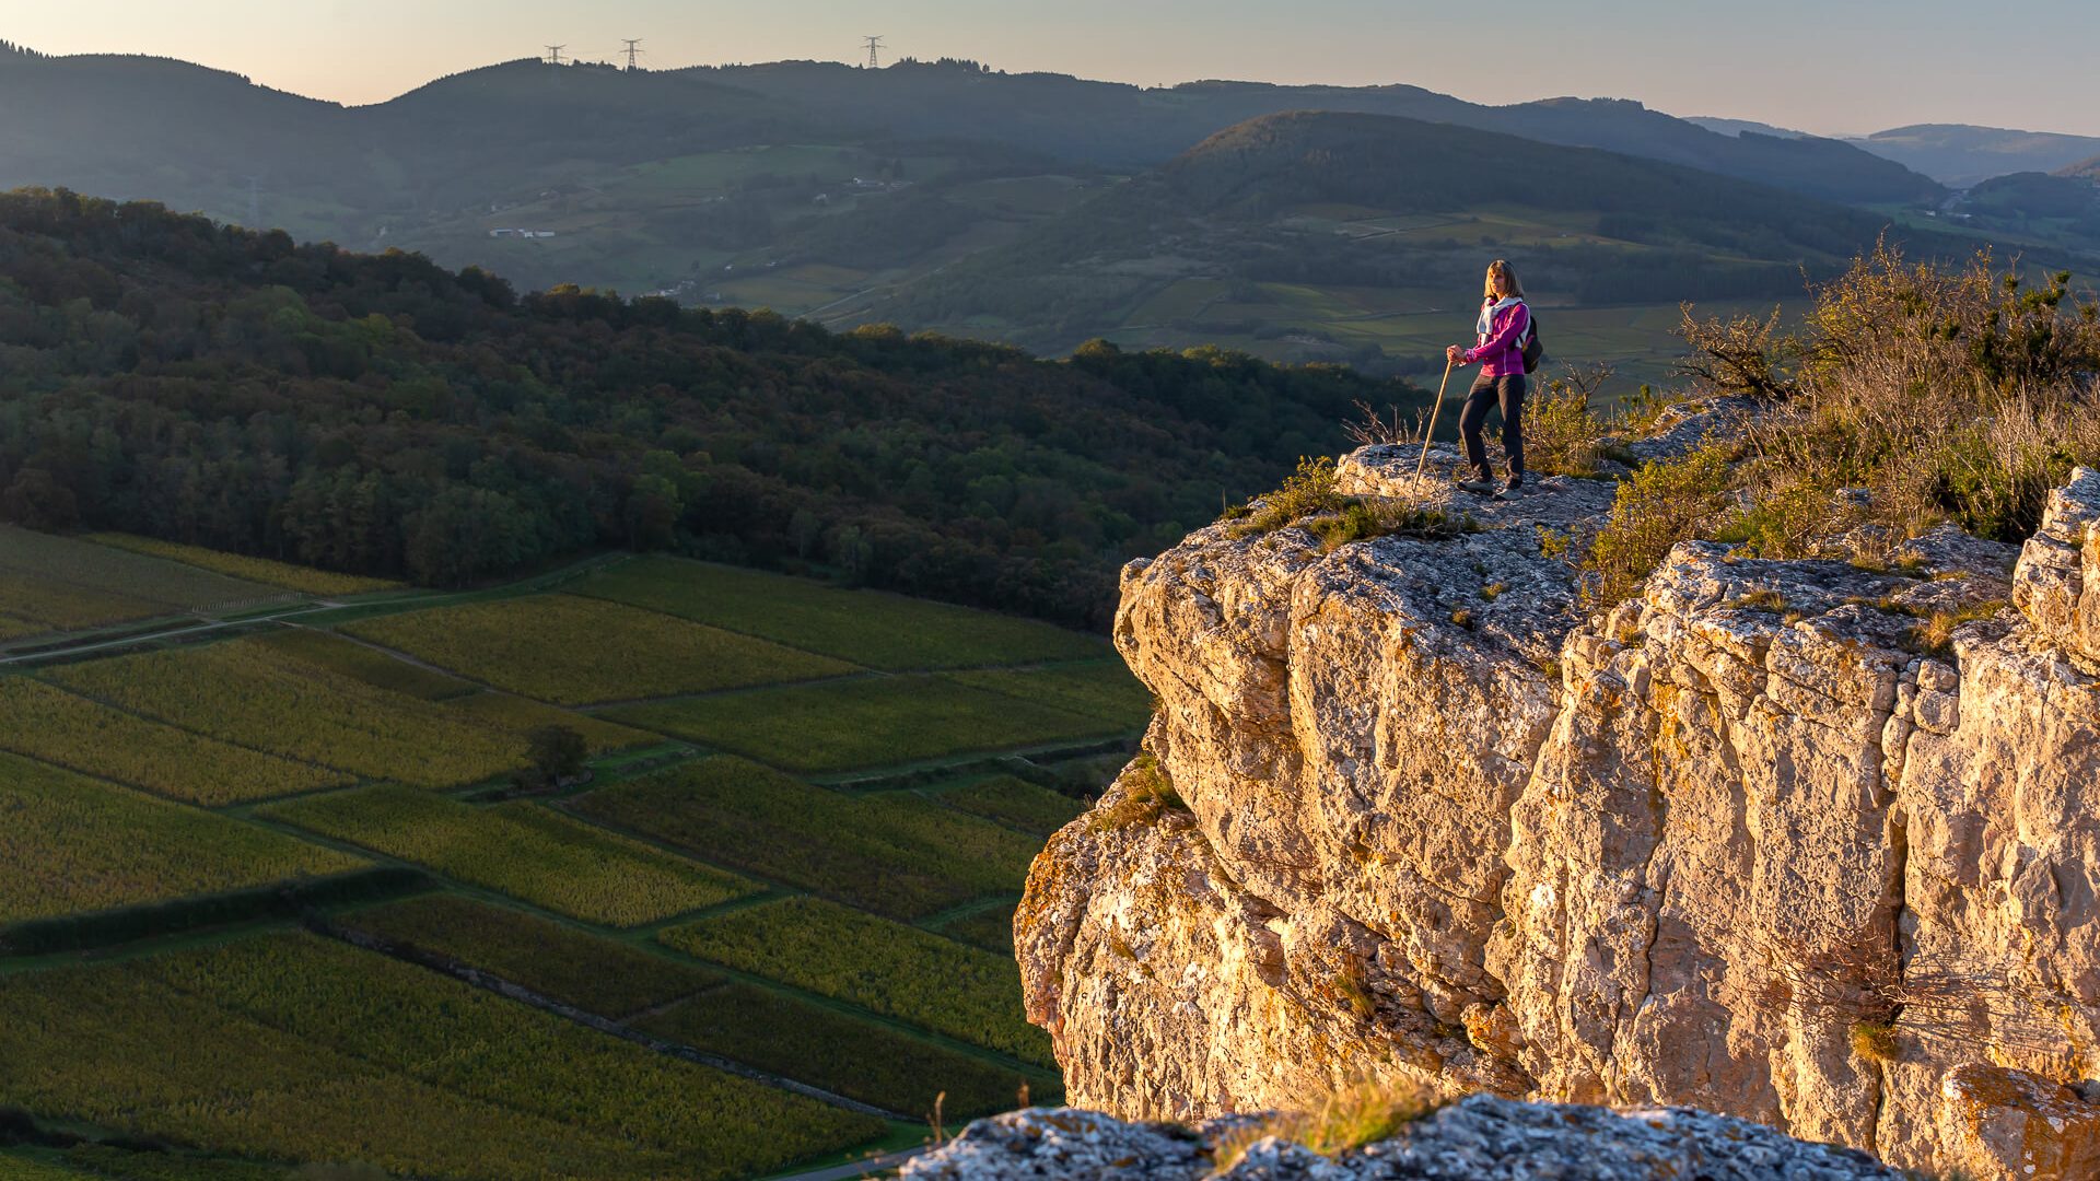
M 1121 559 L 1401 382 L 519 296 L 155 204 L 0 195 L 0 519 L 426 584 L 594 546 L 1100 624 Z

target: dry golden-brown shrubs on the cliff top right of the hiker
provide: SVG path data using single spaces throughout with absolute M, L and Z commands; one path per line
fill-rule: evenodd
M 2075 301 L 2068 273 L 2033 284 L 1989 254 L 1947 267 L 1884 244 L 1816 292 L 1800 332 L 1686 307 L 1682 334 L 1695 391 L 1764 412 L 1732 460 L 1695 452 L 1619 488 L 1586 559 L 1594 603 L 1686 538 L 1760 557 L 1844 538 L 1873 561 L 1940 521 L 2018 542 L 2075 464 L 2100 462 L 2100 303 Z

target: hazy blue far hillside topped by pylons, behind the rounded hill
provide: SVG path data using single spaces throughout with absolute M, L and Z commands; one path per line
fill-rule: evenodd
M 960 61 L 632 74 L 510 61 L 342 109 L 181 63 L 0 50 L 0 99 L 52 116 L 0 132 L 10 137 L 0 187 L 67 185 L 302 242 L 418 250 L 521 290 L 573 282 L 827 324 L 865 322 L 869 303 L 1025 242 L 1121 179 L 1281 111 L 1445 122 L 1882 208 L 1945 195 L 1833 141 L 1714 134 L 1625 101 L 1489 107 L 1418 86 L 1136 88 Z M 1378 334 L 1336 330 L 1329 319 L 1367 309 L 1346 292 L 1323 298 L 1338 311 L 1308 322 L 1302 307 L 1252 307 L 1233 317 L 1250 330 L 1228 336 L 1283 361 L 1415 366 L 1418 343 L 1388 351 Z M 1124 338 L 1210 343 L 1178 326 L 1178 303 Z M 1010 292 L 1002 305 L 1025 307 Z M 1670 322 L 1653 307 L 1598 332 L 1663 357 Z M 1016 330 L 1069 338 L 1050 322 Z

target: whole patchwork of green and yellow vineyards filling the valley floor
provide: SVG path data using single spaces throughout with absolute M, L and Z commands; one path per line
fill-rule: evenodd
M 386 595 L 25 536 L 0 1110 L 88 1139 L 0 1181 L 760 1177 L 1060 1097 L 987 948 L 1084 807 L 1042 784 L 1144 725 L 1098 637 L 680 559 Z

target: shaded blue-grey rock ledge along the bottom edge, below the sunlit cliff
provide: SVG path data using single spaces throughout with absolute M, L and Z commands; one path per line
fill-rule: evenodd
M 1216 1173 L 1226 1122 L 1126 1124 L 1090 1112 L 1014 1112 L 979 1120 L 903 1168 L 907 1181 L 1898 1181 L 1873 1158 L 1802 1143 L 1690 1110 L 1609 1112 L 1476 1095 L 1401 1135 L 1315 1156 L 1256 1141 Z

